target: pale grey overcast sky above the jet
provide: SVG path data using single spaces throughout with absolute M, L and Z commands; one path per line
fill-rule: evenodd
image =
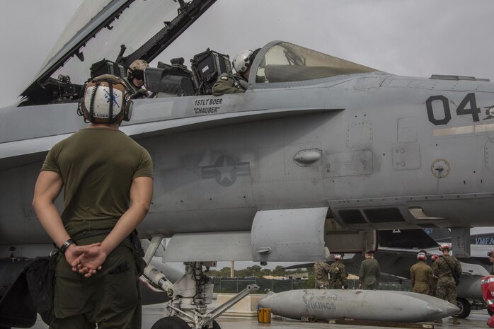
M 0 11 L 0 106 L 16 102 L 81 2 L 16 0 Z M 218 0 L 154 63 L 285 40 L 393 74 L 494 81 L 493 13 L 493 0 Z

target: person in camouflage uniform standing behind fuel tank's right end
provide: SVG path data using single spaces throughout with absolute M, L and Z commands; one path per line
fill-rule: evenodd
M 449 255 L 449 245 L 444 244 L 440 248 L 443 250 L 443 255 L 433 265 L 433 273 L 437 277 L 437 298 L 456 305 L 457 292 L 453 272 L 461 273 L 461 265 L 459 260 Z M 453 323 L 459 323 L 457 316 L 453 317 Z

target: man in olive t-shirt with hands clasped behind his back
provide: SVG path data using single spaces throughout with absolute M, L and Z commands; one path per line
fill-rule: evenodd
M 116 76 L 88 83 L 80 105 L 91 125 L 52 147 L 35 185 L 35 212 L 59 248 L 50 329 L 141 328 L 134 230 L 151 205 L 153 164 L 119 130 L 132 114 L 125 91 Z

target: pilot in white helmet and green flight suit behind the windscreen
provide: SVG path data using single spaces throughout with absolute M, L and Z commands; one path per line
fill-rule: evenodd
M 224 73 L 219 76 L 212 88 L 213 95 L 221 96 L 225 93 L 245 93 L 248 88 L 248 76 L 251 72 L 251 64 L 259 50 L 241 50 L 236 54 L 232 62 L 236 73 Z

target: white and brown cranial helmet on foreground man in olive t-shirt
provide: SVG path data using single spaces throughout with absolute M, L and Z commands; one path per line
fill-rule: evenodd
M 117 76 L 103 74 L 86 83 L 77 112 L 87 122 L 113 124 L 129 121 L 132 106 L 125 83 Z

